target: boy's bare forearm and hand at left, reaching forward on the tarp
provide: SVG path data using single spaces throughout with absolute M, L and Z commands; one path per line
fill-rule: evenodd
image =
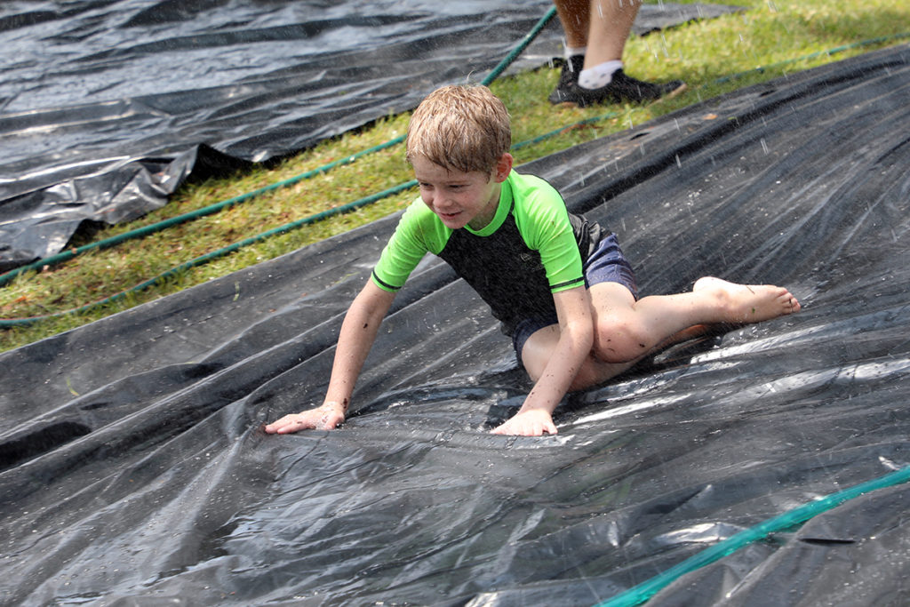
M 322 405 L 316 409 L 291 413 L 265 427 L 269 434 L 288 434 L 298 430 L 332 430 L 345 419 L 350 396 L 363 361 L 376 340 L 379 324 L 392 305 L 395 293 L 385 291 L 372 280 L 350 304 L 341 323 L 335 362 L 329 379 L 329 389 Z

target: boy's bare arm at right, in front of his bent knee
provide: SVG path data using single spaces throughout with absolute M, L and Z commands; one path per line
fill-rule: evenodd
M 560 291 L 553 294 L 553 300 L 560 319 L 559 342 L 521 410 L 493 430 L 496 434 L 555 434 L 552 412 L 569 391 L 581 363 L 591 354 L 594 326 L 587 289 L 577 287 Z

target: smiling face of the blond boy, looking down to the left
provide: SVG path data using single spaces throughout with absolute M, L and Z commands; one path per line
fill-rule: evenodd
M 503 154 L 489 174 L 462 173 L 440 167 L 425 157 L 411 161 L 424 204 L 452 229 L 468 225 L 480 229 L 490 223 L 500 203 L 501 183 L 509 177 L 511 165 L 509 154 Z

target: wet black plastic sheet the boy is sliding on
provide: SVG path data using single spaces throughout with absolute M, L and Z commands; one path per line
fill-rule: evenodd
M 910 464 L 910 46 L 522 167 L 616 230 L 642 292 L 787 285 L 792 317 L 487 430 L 527 380 L 427 259 L 341 430 L 318 402 L 387 218 L 0 356 L 9 604 L 590 605 Z M 654 605 L 900 604 L 905 487 L 686 575 Z

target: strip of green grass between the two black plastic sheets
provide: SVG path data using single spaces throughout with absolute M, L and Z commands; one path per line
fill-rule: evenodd
M 531 140 L 559 126 L 608 116 L 586 126 L 566 128 L 558 136 L 522 147 L 519 163 L 638 125 L 704 99 L 787 73 L 859 55 L 910 38 L 910 7 L 893 0 L 747 0 L 743 13 L 695 22 L 664 32 L 632 37 L 626 46 L 627 71 L 648 80 L 682 78 L 688 90 L 651 106 L 553 107 L 547 95 L 559 76 L 555 69 L 504 77 L 490 87 L 509 107 L 513 140 Z M 886 38 L 876 44 L 861 44 Z M 844 48 L 846 46 L 847 48 Z M 829 54 L 828 51 L 835 51 Z M 724 76 L 737 75 L 735 78 Z M 723 79 L 723 81 L 722 81 Z M 388 116 L 357 132 L 322 143 L 278 167 L 259 168 L 226 178 L 187 184 L 164 208 L 126 225 L 79 234 L 73 247 L 207 207 L 259 187 L 278 183 L 329 162 L 383 144 L 405 132 L 408 115 Z M 55 268 L 30 271 L 0 288 L 0 318 L 53 315 L 105 299 L 157 277 L 190 259 L 366 197 L 410 180 L 410 168 L 397 145 L 334 168 L 319 177 L 278 188 L 215 215 L 168 228 L 106 250 L 94 250 Z M 178 272 L 113 303 L 0 329 L 0 351 L 73 329 L 140 303 L 224 276 L 268 258 L 339 234 L 407 205 L 416 192 L 389 197 L 357 211 L 268 238 L 256 245 Z

